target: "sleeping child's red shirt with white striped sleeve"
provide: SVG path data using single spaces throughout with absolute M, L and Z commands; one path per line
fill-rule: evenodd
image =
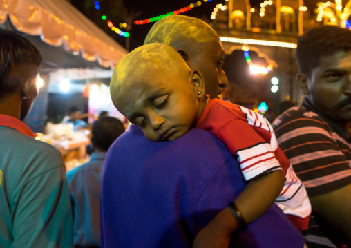
M 263 115 L 231 102 L 211 99 L 196 128 L 211 131 L 225 142 L 229 151 L 237 155 L 247 181 L 283 170 L 284 187 L 276 204 L 299 229 L 307 228 L 311 204 L 306 189 L 279 148 L 273 128 Z

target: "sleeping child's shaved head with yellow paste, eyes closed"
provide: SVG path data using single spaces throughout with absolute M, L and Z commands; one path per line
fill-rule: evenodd
M 187 133 L 206 105 L 202 75 L 166 44 L 146 44 L 121 59 L 110 92 L 117 110 L 156 142 Z

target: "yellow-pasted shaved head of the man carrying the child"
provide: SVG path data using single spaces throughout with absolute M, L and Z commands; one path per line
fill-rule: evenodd
M 156 22 L 144 44 L 163 43 L 175 48 L 191 70 L 199 70 L 205 91 L 218 98 L 228 79 L 222 70 L 225 51 L 216 31 L 205 21 L 184 15 L 170 15 Z

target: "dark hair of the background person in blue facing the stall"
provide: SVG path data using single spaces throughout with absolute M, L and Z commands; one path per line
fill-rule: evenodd
M 107 151 L 117 137 L 124 133 L 124 125 L 114 117 L 102 117 L 93 123 L 91 133 L 93 146 L 102 151 Z

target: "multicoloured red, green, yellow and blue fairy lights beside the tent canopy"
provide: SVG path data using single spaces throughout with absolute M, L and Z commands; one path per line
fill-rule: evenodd
M 95 0 L 91 0 L 93 1 L 94 3 L 94 6 L 95 6 L 95 9 L 96 10 L 100 10 L 100 5 L 99 5 L 99 1 L 95 1 Z M 207 2 L 211 2 L 212 0 L 202 0 L 204 3 L 207 3 Z M 227 0 L 226 0 L 227 1 Z M 153 23 L 155 21 L 159 21 L 160 19 L 162 19 L 163 17 L 167 17 L 168 15 L 181 15 L 183 14 L 184 12 L 187 12 L 189 10 L 192 10 L 193 8 L 197 8 L 199 6 L 202 5 L 202 2 L 201 1 L 196 1 L 196 3 L 190 3 L 189 6 L 184 6 L 183 8 L 180 8 L 178 10 L 174 10 L 174 11 L 171 11 L 171 12 L 167 12 L 165 14 L 162 14 L 162 15 L 158 15 L 156 17 L 149 17 L 149 18 L 146 18 L 146 19 L 140 19 L 140 20 L 136 20 L 136 21 L 133 21 L 133 24 L 135 25 L 144 25 L 144 24 L 147 24 L 147 23 Z M 120 36 L 123 36 L 123 37 L 129 37 L 129 32 L 125 32 L 123 30 L 121 30 L 120 28 L 126 28 L 128 26 L 127 23 L 120 23 L 118 26 L 120 28 L 117 28 L 113 22 L 111 20 L 108 20 L 106 15 L 102 15 L 101 17 L 104 21 L 106 21 L 106 24 L 109 28 L 111 28 L 111 30 L 113 30 L 117 35 L 120 35 Z

